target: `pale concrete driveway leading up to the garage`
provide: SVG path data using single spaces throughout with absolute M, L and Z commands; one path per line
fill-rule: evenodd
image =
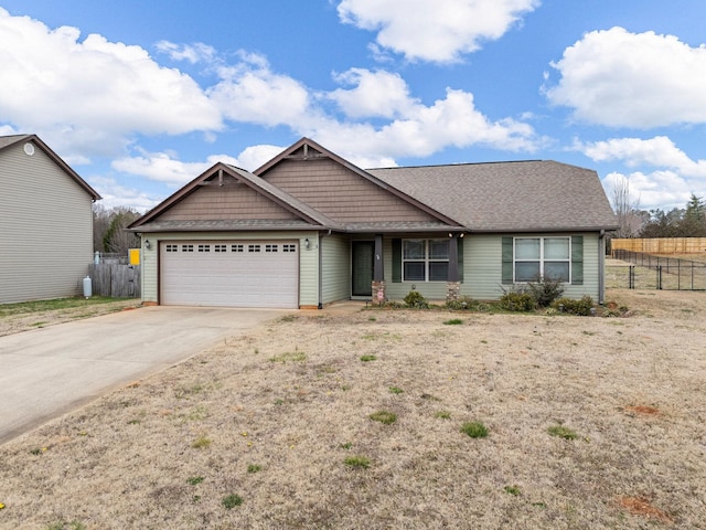
M 0 337 L 0 443 L 288 312 L 142 307 Z

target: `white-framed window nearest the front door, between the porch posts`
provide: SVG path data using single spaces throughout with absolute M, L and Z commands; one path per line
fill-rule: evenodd
M 404 240 L 404 282 L 446 282 L 449 275 L 449 240 Z

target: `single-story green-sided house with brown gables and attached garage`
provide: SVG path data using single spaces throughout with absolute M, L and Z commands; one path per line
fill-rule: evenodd
M 321 308 L 496 299 L 560 278 L 603 298 L 616 216 L 598 174 L 554 161 L 363 170 L 302 138 L 254 172 L 216 163 L 130 225 L 146 304 Z

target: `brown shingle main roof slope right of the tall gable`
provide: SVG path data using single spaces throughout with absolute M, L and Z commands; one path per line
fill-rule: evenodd
M 478 232 L 612 230 L 596 171 L 555 161 L 371 169 L 368 173 Z

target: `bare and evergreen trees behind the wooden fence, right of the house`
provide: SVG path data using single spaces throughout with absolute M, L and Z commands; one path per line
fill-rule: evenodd
M 619 226 L 614 237 L 706 237 L 706 201 L 694 193 L 684 208 L 642 210 L 624 181 L 616 184 L 612 199 Z

